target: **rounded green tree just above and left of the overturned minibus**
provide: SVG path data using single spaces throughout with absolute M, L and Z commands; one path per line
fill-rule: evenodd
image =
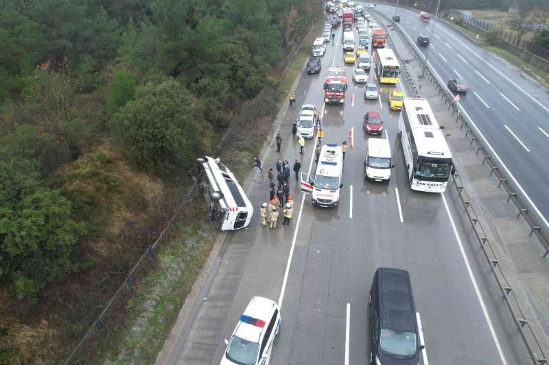
M 145 171 L 190 167 L 200 147 L 194 100 L 174 79 L 139 86 L 109 126 L 128 158 Z

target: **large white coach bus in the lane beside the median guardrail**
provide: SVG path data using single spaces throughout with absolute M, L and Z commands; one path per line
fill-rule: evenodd
M 399 119 L 400 140 L 412 190 L 444 192 L 452 153 L 425 99 L 404 99 Z

